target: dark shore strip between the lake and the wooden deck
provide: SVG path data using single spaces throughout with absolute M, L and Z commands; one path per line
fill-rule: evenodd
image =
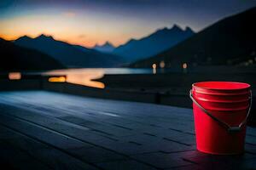
M 256 80 L 252 74 L 214 74 L 209 73 L 169 73 L 169 74 L 134 74 L 134 75 L 105 75 L 95 81 L 102 82 L 106 88 L 90 88 L 69 82 L 49 82 L 49 77 L 23 77 L 10 81 L 1 79 L 0 91 L 9 90 L 47 90 L 65 94 L 75 94 L 92 98 L 118 99 L 153 103 L 158 105 L 172 105 L 191 108 L 189 89 L 193 82 L 210 80 L 248 82 L 256 92 Z M 64 76 L 65 77 L 65 76 Z M 249 122 L 256 125 L 256 93 L 253 93 L 252 114 Z

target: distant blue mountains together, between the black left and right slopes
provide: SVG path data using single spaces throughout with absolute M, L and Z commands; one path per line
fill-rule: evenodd
M 158 54 L 177 42 L 183 41 L 194 34 L 189 27 L 182 30 L 175 25 L 171 29 L 164 28 L 155 31 L 148 37 L 139 40 L 131 39 L 124 45 L 114 48 L 110 42 L 97 45 L 94 48 L 85 48 L 68 42 L 55 40 L 54 37 L 44 34 L 32 38 L 23 36 L 14 41 L 24 48 L 36 49 L 61 62 L 69 68 L 73 67 L 119 67 L 137 59 L 144 59 Z

